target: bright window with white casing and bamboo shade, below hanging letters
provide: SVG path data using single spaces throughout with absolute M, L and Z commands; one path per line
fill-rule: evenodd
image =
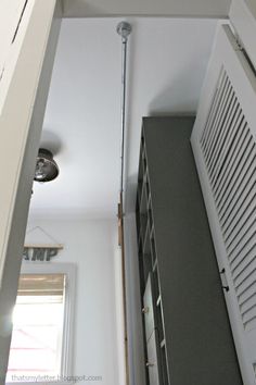
M 7 382 L 53 382 L 72 375 L 72 268 L 36 263 L 23 269 L 13 312 Z

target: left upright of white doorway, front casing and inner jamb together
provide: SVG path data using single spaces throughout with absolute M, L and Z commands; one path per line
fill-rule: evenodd
M 7 69 L 11 82 L 0 112 L 0 385 L 8 368 L 36 156 L 62 20 L 59 0 L 28 0 L 27 9 L 15 65 Z

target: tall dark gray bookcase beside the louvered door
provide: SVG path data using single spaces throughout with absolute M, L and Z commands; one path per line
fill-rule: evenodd
M 137 234 L 141 300 L 151 295 L 154 313 L 154 343 L 145 339 L 144 349 L 157 358 L 146 378 L 150 385 L 242 385 L 190 146 L 193 122 L 143 119 Z M 144 297 L 146 287 L 152 293 Z

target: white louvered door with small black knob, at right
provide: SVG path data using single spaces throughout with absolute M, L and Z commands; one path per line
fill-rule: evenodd
M 191 142 L 243 381 L 255 385 L 256 73 L 228 25 L 219 27 Z

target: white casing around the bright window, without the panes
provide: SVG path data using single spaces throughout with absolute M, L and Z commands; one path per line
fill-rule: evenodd
M 23 262 L 21 274 L 65 274 L 65 302 L 63 319 L 63 338 L 61 373 L 62 377 L 73 376 L 73 348 L 74 348 L 74 315 L 75 315 L 75 287 L 76 287 L 76 265 L 72 263 L 46 263 L 46 262 Z M 18 382 L 23 385 L 56 384 L 56 382 Z M 17 384 L 9 382 L 8 385 Z M 66 384 L 65 381 L 57 381 L 59 385 Z

